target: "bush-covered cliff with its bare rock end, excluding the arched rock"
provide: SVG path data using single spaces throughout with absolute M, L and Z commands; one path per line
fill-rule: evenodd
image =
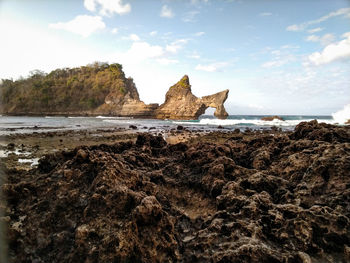
M 9 115 L 151 116 L 132 78 L 120 64 L 96 62 L 78 68 L 33 71 L 28 78 L 2 80 L 0 112 Z

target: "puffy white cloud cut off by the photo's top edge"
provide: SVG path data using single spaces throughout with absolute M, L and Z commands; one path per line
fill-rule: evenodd
M 99 7 L 99 13 L 103 16 L 114 13 L 124 15 L 131 11 L 131 5 L 123 4 L 123 0 L 84 0 L 84 6 L 91 12 L 96 12 Z

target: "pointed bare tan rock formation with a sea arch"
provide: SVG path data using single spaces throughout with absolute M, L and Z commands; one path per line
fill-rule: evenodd
M 165 102 L 155 111 L 158 119 L 198 119 L 208 107 L 216 108 L 214 115 L 219 119 L 228 116 L 224 102 L 229 90 L 197 98 L 192 94 L 188 76 L 171 86 L 165 96 Z

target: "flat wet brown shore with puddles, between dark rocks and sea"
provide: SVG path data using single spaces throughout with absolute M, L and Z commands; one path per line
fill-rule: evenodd
M 143 133 L 161 134 L 168 143 L 175 144 L 208 132 L 208 130 L 176 129 L 170 126 L 163 129 L 154 128 L 146 132 L 144 129 L 135 129 L 131 126 L 129 128 L 92 128 L 88 130 L 16 133 L 0 136 L 0 161 L 9 168 L 31 169 L 33 165 L 29 160 L 35 159 L 37 161 L 38 158 L 40 159 L 46 154 L 70 151 L 79 146 L 114 144 L 125 141 L 135 142 L 137 136 Z M 22 160 L 22 162 L 18 162 L 18 160 Z M 28 160 L 28 162 L 23 160 Z M 37 162 L 35 164 L 37 165 Z

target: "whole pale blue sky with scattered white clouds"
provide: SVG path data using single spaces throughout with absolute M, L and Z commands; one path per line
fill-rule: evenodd
M 187 74 L 233 115 L 350 104 L 349 0 L 0 0 L 0 36 L 0 79 L 101 61 L 146 103 Z

